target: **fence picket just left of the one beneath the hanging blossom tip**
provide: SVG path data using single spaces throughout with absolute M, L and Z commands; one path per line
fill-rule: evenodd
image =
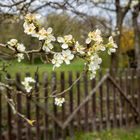
M 84 74 L 83 76 L 83 80 L 84 80 L 84 92 L 85 92 L 85 98 L 88 96 L 88 80 L 87 80 L 87 74 Z M 84 112 L 84 120 L 85 120 L 85 124 L 84 124 L 84 129 L 85 131 L 88 131 L 89 130 L 89 126 L 88 126 L 88 119 L 89 119 L 89 116 L 88 116 L 88 109 L 89 105 L 88 105 L 88 102 L 85 104 L 85 112 Z

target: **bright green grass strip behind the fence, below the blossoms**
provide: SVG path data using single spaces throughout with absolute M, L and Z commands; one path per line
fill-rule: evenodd
M 5 63 L 9 63 L 6 62 Z M 0 65 L 2 65 L 2 61 L 0 61 Z M 51 73 L 53 71 L 53 65 L 52 64 L 43 64 L 43 63 L 36 63 L 36 64 L 29 64 L 25 62 L 18 63 L 17 61 L 11 61 L 10 66 L 7 68 L 7 72 L 11 75 L 15 75 L 15 73 L 26 73 L 30 72 L 31 75 L 35 73 L 37 67 L 39 68 L 39 73 L 48 72 Z M 73 61 L 70 65 L 63 64 L 61 67 L 56 68 L 54 71 L 60 72 L 60 71 L 82 71 L 84 67 L 84 61 L 83 60 L 76 60 Z

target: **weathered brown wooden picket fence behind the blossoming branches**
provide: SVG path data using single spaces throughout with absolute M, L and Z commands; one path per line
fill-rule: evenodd
M 18 92 L 19 87 L 14 94 L 0 89 L 0 140 L 59 140 L 67 136 L 73 138 L 79 131 L 128 127 L 139 123 L 140 70 L 119 70 L 116 77 L 100 72 L 91 81 L 85 74 L 73 85 L 79 76 L 79 72 L 44 73 L 43 78 L 35 74 L 34 91 L 26 95 Z M 9 74 L 7 78 L 13 79 Z M 16 74 L 15 80 L 21 83 L 20 74 Z M 68 87 L 71 87 L 70 90 L 61 95 L 66 102 L 62 107 L 56 106 L 50 95 Z M 13 114 L 4 100 L 5 94 L 14 98 L 18 112 L 36 120 L 34 126 Z

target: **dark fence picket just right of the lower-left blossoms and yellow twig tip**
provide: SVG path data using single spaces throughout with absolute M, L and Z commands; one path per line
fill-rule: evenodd
M 39 75 L 36 72 L 35 73 L 35 97 L 36 97 L 36 102 L 39 103 Z M 40 109 L 39 107 L 36 105 L 36 110 L 35 110 L 35 115 L 36 115 L 36 140 L 40 140 Z

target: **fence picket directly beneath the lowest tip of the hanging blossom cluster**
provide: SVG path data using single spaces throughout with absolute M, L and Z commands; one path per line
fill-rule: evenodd
M 96 79 L 91 80 L 91 89 L 93 90 L 96 86 Z M 96 126 L 96 93 L 92 96 L 92 116 L 93 116 L 93 122 L 92 122 L 92 129 L 94 131 L 97 130 Z

